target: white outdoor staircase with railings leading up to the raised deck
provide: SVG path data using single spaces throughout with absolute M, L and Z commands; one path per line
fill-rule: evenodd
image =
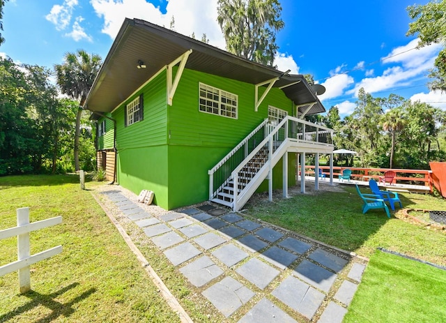
M 327 137 L 332 133 L 330 128 L 294 117 L 286 117 L 275 127 L 266 119 L 208 171 L 209 200 L 240 210 L 261 183 L 270 178 L 272 168 L 284 153 L 300 149 L 330 153 L 333 145 Z

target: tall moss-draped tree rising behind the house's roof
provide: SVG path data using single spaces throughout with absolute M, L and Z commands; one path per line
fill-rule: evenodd
M 226 50 L 270 65 L 279 48 L 275 33 L 284 27 L 279 0 L 218 0 L 217 21 Z

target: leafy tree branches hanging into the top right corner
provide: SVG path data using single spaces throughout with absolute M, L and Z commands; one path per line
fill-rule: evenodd
M 410 19 L 415 20 L 409 24 L 408 36 L 417 34 L 420 47 L 443 43 L 443 50 L 438 54 L 435 68 L 429 75 L 433 79 L 429 87 L 446 92 L 446 0 L 432 0 L 424 6 L 409 6 L 407 10 Z

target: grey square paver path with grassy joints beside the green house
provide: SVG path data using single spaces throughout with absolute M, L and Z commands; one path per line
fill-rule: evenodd
M 213 204 L 153 216 L 119 190 L 103 194 L 215 310 L 241 323 L 340 323 L 367 265 Z

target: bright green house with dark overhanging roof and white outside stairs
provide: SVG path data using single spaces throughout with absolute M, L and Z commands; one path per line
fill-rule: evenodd
M 332 130 L 303 120 L 325 112 L 314 89 L 302 75 L 126 19 L 84 108 L 114 183 L 152 190 L 164 209 L 213 200 L 238 210 L 256 191 L 286 195 L 306 153 L 332 152 Z

